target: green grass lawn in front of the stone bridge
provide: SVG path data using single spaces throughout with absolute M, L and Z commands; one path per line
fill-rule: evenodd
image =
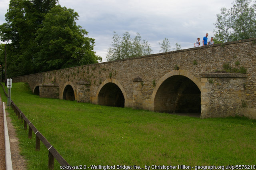
M 12 100 L 72 166 L 256 164 L 256 121 L 244 117 L 199 119 L 45 99 L 26 83 L 13 83 Z M 35 151 L 35 135 L 28 139 L 9 112 L 28 168 L 47 169 L 48 150 L 41 142 Z

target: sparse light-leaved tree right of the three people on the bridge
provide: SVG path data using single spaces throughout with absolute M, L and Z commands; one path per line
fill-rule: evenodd
M 214 24 L 216 42 L 230 42 L 256 37 L 256 4 L 251 0 L 234 0 L 230 9 L 221 8 Z

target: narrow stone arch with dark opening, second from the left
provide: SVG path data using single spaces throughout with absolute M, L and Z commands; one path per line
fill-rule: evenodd
M 65 83 L 63 90 L 62 90 L 62 99 L 64 100 L 76 100 L 76 91 L 75 87 L 71 82 Z

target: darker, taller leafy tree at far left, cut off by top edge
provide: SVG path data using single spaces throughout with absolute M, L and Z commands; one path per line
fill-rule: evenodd
M 0 26 L 0 38 L 7 44 L 9 77 L 34 73 L 35 34 L 45 14 L 57 0 L 10 0 Z

